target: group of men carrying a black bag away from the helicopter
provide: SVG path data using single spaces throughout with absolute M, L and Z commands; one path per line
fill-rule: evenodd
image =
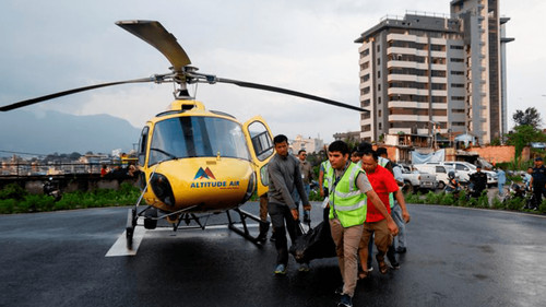
M 276 154 L 269 163 L 269 192 L 266 199 L 260 198 L 260 215 L 262 221 L 266 219 L 266 206 L 277 251 L 274 273 L 283 275 L 288 264 L 286 233 L 292 243 L 299 235 L 299 204 L 304 221 L 310 216 L 312 172 L 305 151 L 298 152 L 298 158 L 288 153 L 285 135 L 276 135 L 273 144 Z M 336 290 L 341 295 L 337 306 L 348 307 L 353 306 L 357 281 L 371 272 L 373 245 L 381 274 L 400 268 L 395 253 L 406 252 L 405 224 L 411 217 L 400 190 L 401 170 L 387 158 L 384 149 L 375 151 L 364 142 L 349 152 L 345 142 L 334 141 L 328 147 L 328 157 L 320 165 L 318 179 L 324 198 L 323 217 L 330 226 L 343 280 Z M 260 240 L 265 239 L 264 231 L 260 228 Z M 301 263 L 299 271 L 309 271 L 309 263 Z

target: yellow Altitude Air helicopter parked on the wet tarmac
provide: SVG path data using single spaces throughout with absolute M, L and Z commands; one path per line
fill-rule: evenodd
M 170 72 L 73 88 L 7 105 L 0 110 L 8 111 L 83 91 L 127 83 L 173 82 L 178 86 L 168 109 L 150 119 L 140 137 L 138 165 L 142 170 L 142 194 L 134 208 L 128 211 L 126 235 L 129 247 L 140 217 L 149 229 L 155 228 L 158 220 L 169 222 L 174 231 L 182 221 L 187 225 L 194 222 L 195 227 L 204 229 L 207 226 L 204 216 L 226 212 L 228 227 L 254 243 L 256 237 L 250 234 L 246 220 L 264 223 L 239 206 L 254 192 L 262 196 L 268 191 L 266 167 L 274 154 L 270 128 L 260 116 L 241 125 L 226 113 L 206 110 L 201 102 L 190 96 L 188 84 L 232 83 L 367 111 L 292 90 L 198 73 L 175 36 L 159 22 L 119 21 L 116 24 L 159 50 L 170 62 Z M 147 205 L 139 210 L 142 201 Z M 238 222 L 232 219 L 229 211 L 239 215 Z M 242 229 L 237 226 L 238 223 Z

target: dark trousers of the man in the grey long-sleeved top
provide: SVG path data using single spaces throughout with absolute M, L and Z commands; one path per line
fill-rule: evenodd
M 288 240 L 286 239 L 286 229 L 290 236 L 290 241 L 296 240 L 296 221 L 292 216 L 290 209 L 286 204 L 270 202 L 268 204 L 271 223 L 273 224 L 273 234 L 275 235 L 276 264 L 288 264 Z M 286 224 L 285 224 L 286 223 Z M 285 227 L 286 225 L 286 227 Z

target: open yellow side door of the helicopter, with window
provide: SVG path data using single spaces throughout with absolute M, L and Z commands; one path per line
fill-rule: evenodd
M 257 192 L 258 196 L 262 196 L 269 189 L 268 163 L 274 153 L 273 134 L 261 116 L 252 117 L 245 122 L 242 131 L 257 170 Z

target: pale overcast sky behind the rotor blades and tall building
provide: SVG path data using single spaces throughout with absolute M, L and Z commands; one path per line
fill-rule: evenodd
M 323 96 L 358 106 L 359 35 L 406 10 L 449 14 L 449 0 L 4 0 L 0 4 L 0 105 L 94 83 L 168 72 L 153 47 L 115 25 L 157 20 L 201 72 Z M 508 44 L 509 128 L 515 109 L 546 114 L 546 1 L 500 1 L 511 17 Z M 192 88 L 192 91 L 195 88 Z M 170 84 L 84 92 L 26 107 L 75 115 L 109 114 L 142 128 L 173 101 Z M 293 139 L 359 130 L 357 111 L 302 98 L 200 84 L 197 98 L 240 121 L 263 116 L 274 134 Z M 1 114 L 9 116 L 9 113 Z M 543 120 L 543 123 L 546 121 Z M 1 135 L 1 134 L 0 134 Z

